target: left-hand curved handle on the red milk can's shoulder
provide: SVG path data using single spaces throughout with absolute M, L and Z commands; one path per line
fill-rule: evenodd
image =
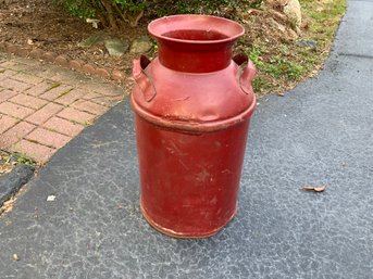
M 153 81 L 145 72 L 150 62 L 151 61 L 147 56 L 141 55 L 140 59 L 134 60 L 132 72 L 133 77 L 147 102 L 153 100 L 157 94 Z

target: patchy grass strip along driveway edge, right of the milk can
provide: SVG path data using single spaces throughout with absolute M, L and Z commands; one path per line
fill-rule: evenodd
M 286 90 L 314 75 L 327 58 L 346 11 L 346 0 L 334 0 L 327 4 L 316 0 L 300 0 L 300 5 L 304 24 L 298 39 L 271 38 L 263 41 L 259 37 L 246 48 L 246 53 L 258 69 L 253 80 L 256 92 Z M 316 48 L 299 47 L 296 45 L 298 40 L 312 40 Z

